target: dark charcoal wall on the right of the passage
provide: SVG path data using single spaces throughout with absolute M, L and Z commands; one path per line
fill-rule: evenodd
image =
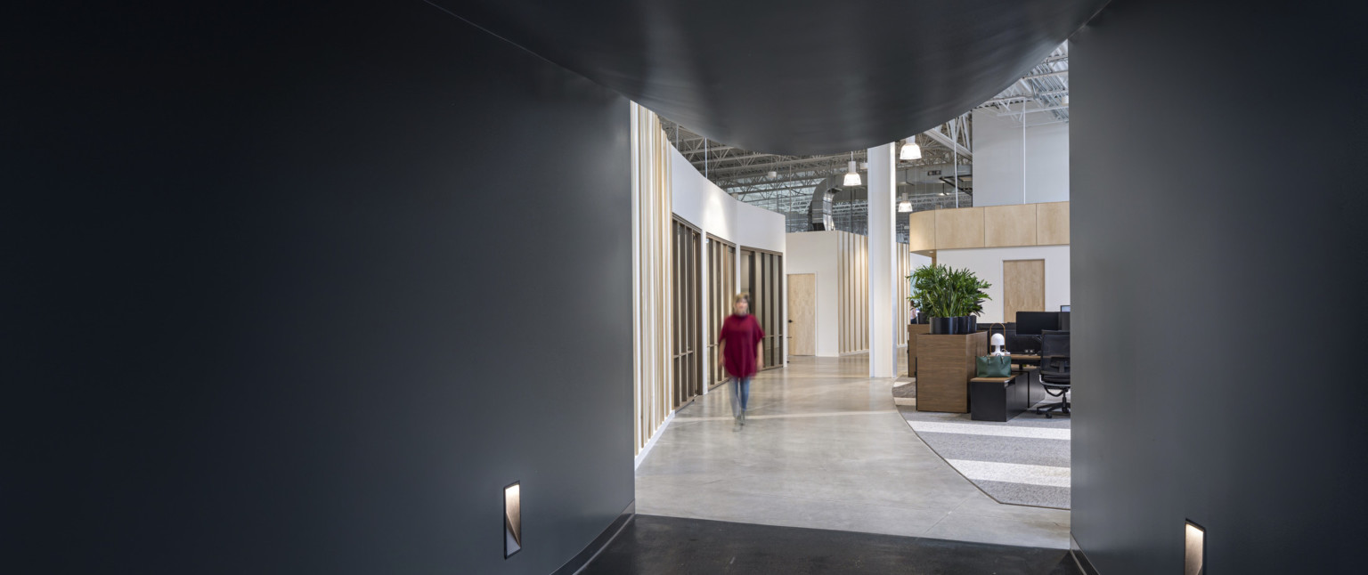
M 1361 15 L 1115 0 L 1071 44 L 1073 533 L 1107 575 L 1358 572 Z

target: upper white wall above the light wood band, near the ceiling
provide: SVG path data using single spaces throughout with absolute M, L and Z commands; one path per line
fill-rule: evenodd
M 1044 112 L 1027 115 L 1041 122 Z M 1022 195 L 1022 171 L 1026 193 Z M 974 205 L 1063 202 L 1068 199 L 1068 124 L 1026 127 L 996 111 L 974 112 Z

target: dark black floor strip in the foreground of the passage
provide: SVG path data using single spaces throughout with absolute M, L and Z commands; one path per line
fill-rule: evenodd
M 1081 575 L 1067 550 L 637 515 L 583 575 Z

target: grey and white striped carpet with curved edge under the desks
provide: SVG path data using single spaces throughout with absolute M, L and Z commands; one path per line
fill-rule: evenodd
M 911 388 L 911 389 L 908 389 Z M 915 384 L 893 388 L 897 411 L 936 452 L 999 503 L 1070 508 L 1070 418 L 1027 411 L 1008 422 L 917 411 Z M 911 404 L 908 404 L 911 399 Z

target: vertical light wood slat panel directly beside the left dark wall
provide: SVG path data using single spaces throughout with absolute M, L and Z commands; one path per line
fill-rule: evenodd
M 632 104 L 633 452 L 640 453 L 673 403 L 670 143 L 661 119 Z

